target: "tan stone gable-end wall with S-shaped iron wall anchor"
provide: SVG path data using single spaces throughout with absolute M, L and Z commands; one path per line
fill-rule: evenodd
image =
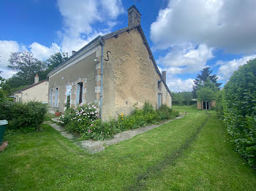
M 107 52 L 109 60 L 107 59 Z M 157 108 L 160 80 L 137 28 L 105 40 L 102 119 L 129 114 L 134 104 L 149 101 Z M 162 84 L 162 103 L 171 106 L 171 97 Z

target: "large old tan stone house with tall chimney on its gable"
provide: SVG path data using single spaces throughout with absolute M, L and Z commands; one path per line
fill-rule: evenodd
M 129 114 L 149 101 L 171 106 L 171 93 L 140 26 L 140 12 L 128 9 L 128 26 L 97 36 L 48 74 L 48 104 L 53 111 L 95 102 L 102 120 Z

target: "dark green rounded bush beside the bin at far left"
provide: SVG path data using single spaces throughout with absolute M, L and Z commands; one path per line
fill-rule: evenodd
M 47 108 L 37 101 L 29 101 L 25 104 L 4 101 L 0 102 L 0 111 L 0 120 L 7 120 L 9 129 L 26 131 L 39 128 Z

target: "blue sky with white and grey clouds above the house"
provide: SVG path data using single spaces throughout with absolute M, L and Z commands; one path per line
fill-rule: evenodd
M 127 27 L 127 9 L 140 24 L 171 91 L 192 90 L 205 67 L 223 85 L 233 71 L 256 58 L 255 0 L 1 0 L 0 71 L 11 52 L 29 50 L 45 60 L 79 50 L 98 35 Z

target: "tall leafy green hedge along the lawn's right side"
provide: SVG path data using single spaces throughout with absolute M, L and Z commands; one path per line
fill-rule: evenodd
M 217 96 L 217 112 L 236 151 L 256 168 L 256 59 L 230 77 Z

